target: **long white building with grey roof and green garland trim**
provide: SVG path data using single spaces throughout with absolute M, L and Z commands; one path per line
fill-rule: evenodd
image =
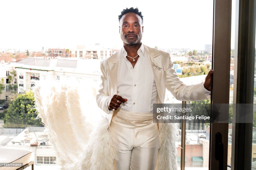
M 35 65 L 34 65 L 35 63 Z M 18 93 L 29 91 L 40 81 L 73 81 L 98 83 L 100 60 L 80 58 L 28 57 L 13 66 L 18 76 Z

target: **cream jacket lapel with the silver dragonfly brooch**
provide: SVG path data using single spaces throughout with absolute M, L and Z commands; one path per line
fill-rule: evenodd
M 148 59 L 151 64 L 151 68 L 153 70 L 159 103 L 163 103 L 162 98 L 160 97 L 160 96 L 162 96 L 161 78 L 162 78 L 162 71 L 163 71 L 162 59 L 161 59 L 160 53 L 158 53 L 156 50 L 154 50 L 146 45 L 144 45 L 144 48 L 148 55 Z

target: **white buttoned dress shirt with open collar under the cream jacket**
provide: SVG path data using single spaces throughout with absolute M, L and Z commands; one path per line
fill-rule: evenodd
M 131 62 L 126 58 L 127 52 L 124 47 L 122 48 L 117 95 L 126 98 L 127 102 L 121 103 L 119 108 L 132 112 L 149 113 L 153 112 L 153 104 L 157 103 L 155 79 L 143 44 L 137 54 L 140 57 L 133 68 Z

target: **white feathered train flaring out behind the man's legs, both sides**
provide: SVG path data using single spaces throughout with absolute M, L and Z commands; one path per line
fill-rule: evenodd
M 107 119 L 87 84 L 44 82 L 34 86 L 35 108 L 63 169 L 111 170 L 116 160 Z M 177 125 L 164 123 L 155 169 L 177 170 Z

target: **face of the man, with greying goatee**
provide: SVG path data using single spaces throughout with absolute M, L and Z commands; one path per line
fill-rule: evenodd
M 126 13 L 120 19 L 119 33 L 124 44 L 140 44 L 143 33 L 142 19 L 133 12 Z

